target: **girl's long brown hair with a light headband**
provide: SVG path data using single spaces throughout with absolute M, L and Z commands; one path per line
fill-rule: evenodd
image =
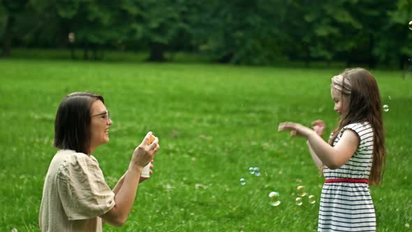
M 341 94 L 349 95 L 348 112 L 342 115 L 334 129 L 330 145 L 333 145 L 341 129 L 356 122 L 369 122 L 374 130 L 374 150 L 369 184 L 378 185 L 385 167 L 385 135 L 383 131 L 382 105 L 378 84 L 365 68 L 348 68 L 332 78 L 332 87 Z M 344 98 L 342 98 L 344 99 Z M 344 104 L 347 104 L 344 102 Z

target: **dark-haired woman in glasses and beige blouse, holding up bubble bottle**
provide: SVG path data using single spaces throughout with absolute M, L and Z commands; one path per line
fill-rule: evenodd
M 128 170 L 114 189 L 105 183 L 93 154 L 109 141 L 112 120 L 102 96 L 75 92 L 61 101 L 54 122 L 54 155 L 45 177 L 39 215 L 41 231 L 102 231 L 104 222 L 122 226 L 133 202 L 142 168 L 159 150 L 152 132 L 135 148 Z

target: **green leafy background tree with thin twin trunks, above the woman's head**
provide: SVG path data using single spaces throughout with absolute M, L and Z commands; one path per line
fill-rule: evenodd
M 75 44 L 83 48 L 83 58 L 99 59 L 99 48 L 116 48 L 141 37 L 141 23 L 136 18 L 142 10 L 133 0 L 122 1 L 57 1 L 53 6 L 60 24 L 68 34 L 75 36 Z

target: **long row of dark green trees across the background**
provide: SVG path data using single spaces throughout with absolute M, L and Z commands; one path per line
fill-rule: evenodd
M 231 64 L 342 61 L 404 68 L 411 0 L 0 0 L 3 57 L 15 47 L 197 52 Z

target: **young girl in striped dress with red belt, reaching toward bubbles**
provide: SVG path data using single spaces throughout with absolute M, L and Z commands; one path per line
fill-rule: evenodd
M 321 138 L 325 124 L 320 120 L 313 129 L 284 122 L 279 131 L 307 138 L 311 157 L 325 176 L 318 231 L 376 231 L 369 184 L 381 182 L 385 163 L 378 85 L 364 68 L 346 69 L 332 78 L 331 94 L 340 118 L 329 143 Z

